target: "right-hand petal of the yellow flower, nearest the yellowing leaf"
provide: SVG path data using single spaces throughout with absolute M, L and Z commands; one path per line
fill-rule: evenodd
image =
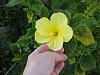
M 64 39 L 64 42 L 68 42 L 70 41 L 70 39 L 72 38 L 73 36 L 73 30 L 70 26 L 66 26 L 65 30 L 62 31 L 62 36 L 63 36 L 63 39 Z

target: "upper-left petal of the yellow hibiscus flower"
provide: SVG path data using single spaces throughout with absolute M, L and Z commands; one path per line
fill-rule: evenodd
M 36 29 L 42 35 L 48 36 L 55 31 L 55 27 L 50 23 L 49 19 L 43 17 L 36 21 Z

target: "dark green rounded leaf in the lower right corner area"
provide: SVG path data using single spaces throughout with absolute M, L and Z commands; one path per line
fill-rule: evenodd
M 83 55 L 80 57 L 80 67 L 83 71 L 96 68 L 96 61 L 92 55 Z

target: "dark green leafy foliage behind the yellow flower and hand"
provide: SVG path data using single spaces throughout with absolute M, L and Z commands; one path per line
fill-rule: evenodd
M 68 60 L 61 75 L 100 75 L 99 0 L 0 0 L 0 27 L 11 28 L 9 38 L 0 38 L 0 75 L 22 75 L 28 54 L 39 46 L 36 20 L 54 12 L 63 12 L 74 30 L 64 43 Z

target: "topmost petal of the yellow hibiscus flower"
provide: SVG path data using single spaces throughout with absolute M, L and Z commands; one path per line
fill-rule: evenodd
M 59 30 L 61 28 L 63 29 L 64 27 L 66 27 L 66 25 L 68 24 L 68 19 L 63 13 L 58 12 L 54 13 L 50 17 L 50 22 L 56 25 Z

